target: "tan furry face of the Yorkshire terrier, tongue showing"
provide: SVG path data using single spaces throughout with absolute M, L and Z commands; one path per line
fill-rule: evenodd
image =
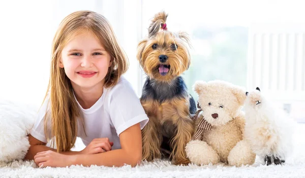
M 185 33 L 159 31 L 138 45 L 137 58 L 144 72 L 159 81 L 170 81 L 190 65 L 188 38 Z

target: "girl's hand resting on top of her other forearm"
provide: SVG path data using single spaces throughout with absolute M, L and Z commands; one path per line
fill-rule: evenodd
M 113 142 L 110 142 L 108 138 L 95 138 L 86 148 L 80 151 L 80 154 L 88 155 L 103 153 L 110 151 L 112 146 Z

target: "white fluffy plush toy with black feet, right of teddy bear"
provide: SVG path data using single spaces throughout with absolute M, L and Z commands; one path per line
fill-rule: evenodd
M 294 121 L 263 97 L 258 87 L 246 95 L 245 139 L 266 165 L 284 163 L 292 151 Z

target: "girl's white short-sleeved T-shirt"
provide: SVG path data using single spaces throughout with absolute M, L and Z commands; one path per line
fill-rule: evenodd
M 48 101 L 49 99 L 46 98 L 30 132 L 33 137 L 44 143 L 47 143 L 44 120 Z M 124 77 L 121 77 L 115 86 L 104 88 L 102 96 L 91 108 L 83 109 L 79 103 L 78 105 L 84 118 L 86 135 L 81 120 L 78 120 L 77 136 L 82 139 L 85 146 L 89 145 L 94 138 L 108 137 L 113 142 L 112 150 L 120 149 L 119 134 L 121 132 L 137 123 L 140 123 L 143 129 L 148 122 L 139 98 Z M 47 126 L 51 128 L 50 122 Z M 50 129 L 47 132 L 51 135 Z

